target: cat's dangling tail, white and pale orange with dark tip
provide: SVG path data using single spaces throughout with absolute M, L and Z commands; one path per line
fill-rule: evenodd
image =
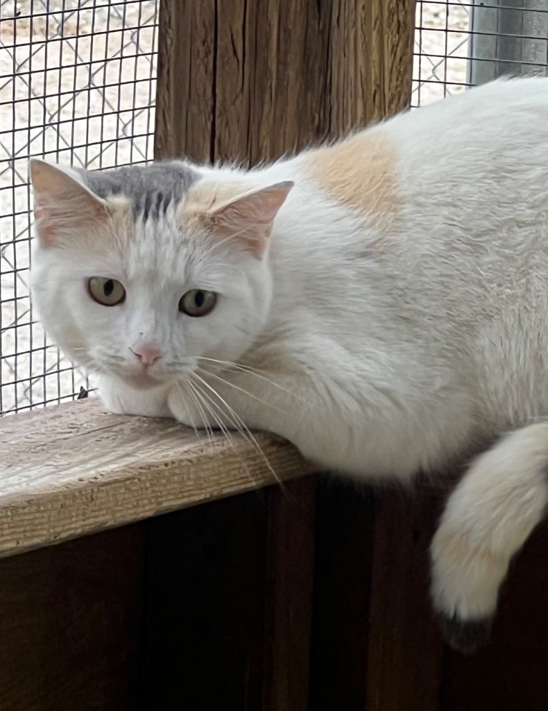
M 548 503 L 548 422 L 503 437 L 451 494 L 431 546 L 432 594 L 448 643 L 488 640 L 498 591 Z

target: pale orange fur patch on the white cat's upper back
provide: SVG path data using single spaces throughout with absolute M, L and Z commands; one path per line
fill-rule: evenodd
M 311 176 L 349 208 L 373 218 L 396 212 L 396 151 L 382 129 L 311 151 L 307 163 Z

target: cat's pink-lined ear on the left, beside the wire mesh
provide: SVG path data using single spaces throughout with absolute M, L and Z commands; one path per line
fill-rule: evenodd
M 69 241 L 109 217 L 107 203 L 70 169 L 31 158 L 28 174 L 33 188 L 36 235 L 43 247 Z

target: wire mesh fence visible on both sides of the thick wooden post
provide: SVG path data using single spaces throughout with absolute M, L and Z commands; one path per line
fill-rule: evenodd
M 158 2 L 0 0 L 0 415 L 86 385 L 33 319 L 27 160 L 151 159 Z M 412 106 L 547 68 L 548 0 L 417 2 Z

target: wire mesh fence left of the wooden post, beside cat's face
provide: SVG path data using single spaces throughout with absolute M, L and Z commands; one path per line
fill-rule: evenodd
M 0 414 L 72 398 L 85 375 L 28 296 L 27 161 L 150 160 L 157 0 L 0 0 Z

